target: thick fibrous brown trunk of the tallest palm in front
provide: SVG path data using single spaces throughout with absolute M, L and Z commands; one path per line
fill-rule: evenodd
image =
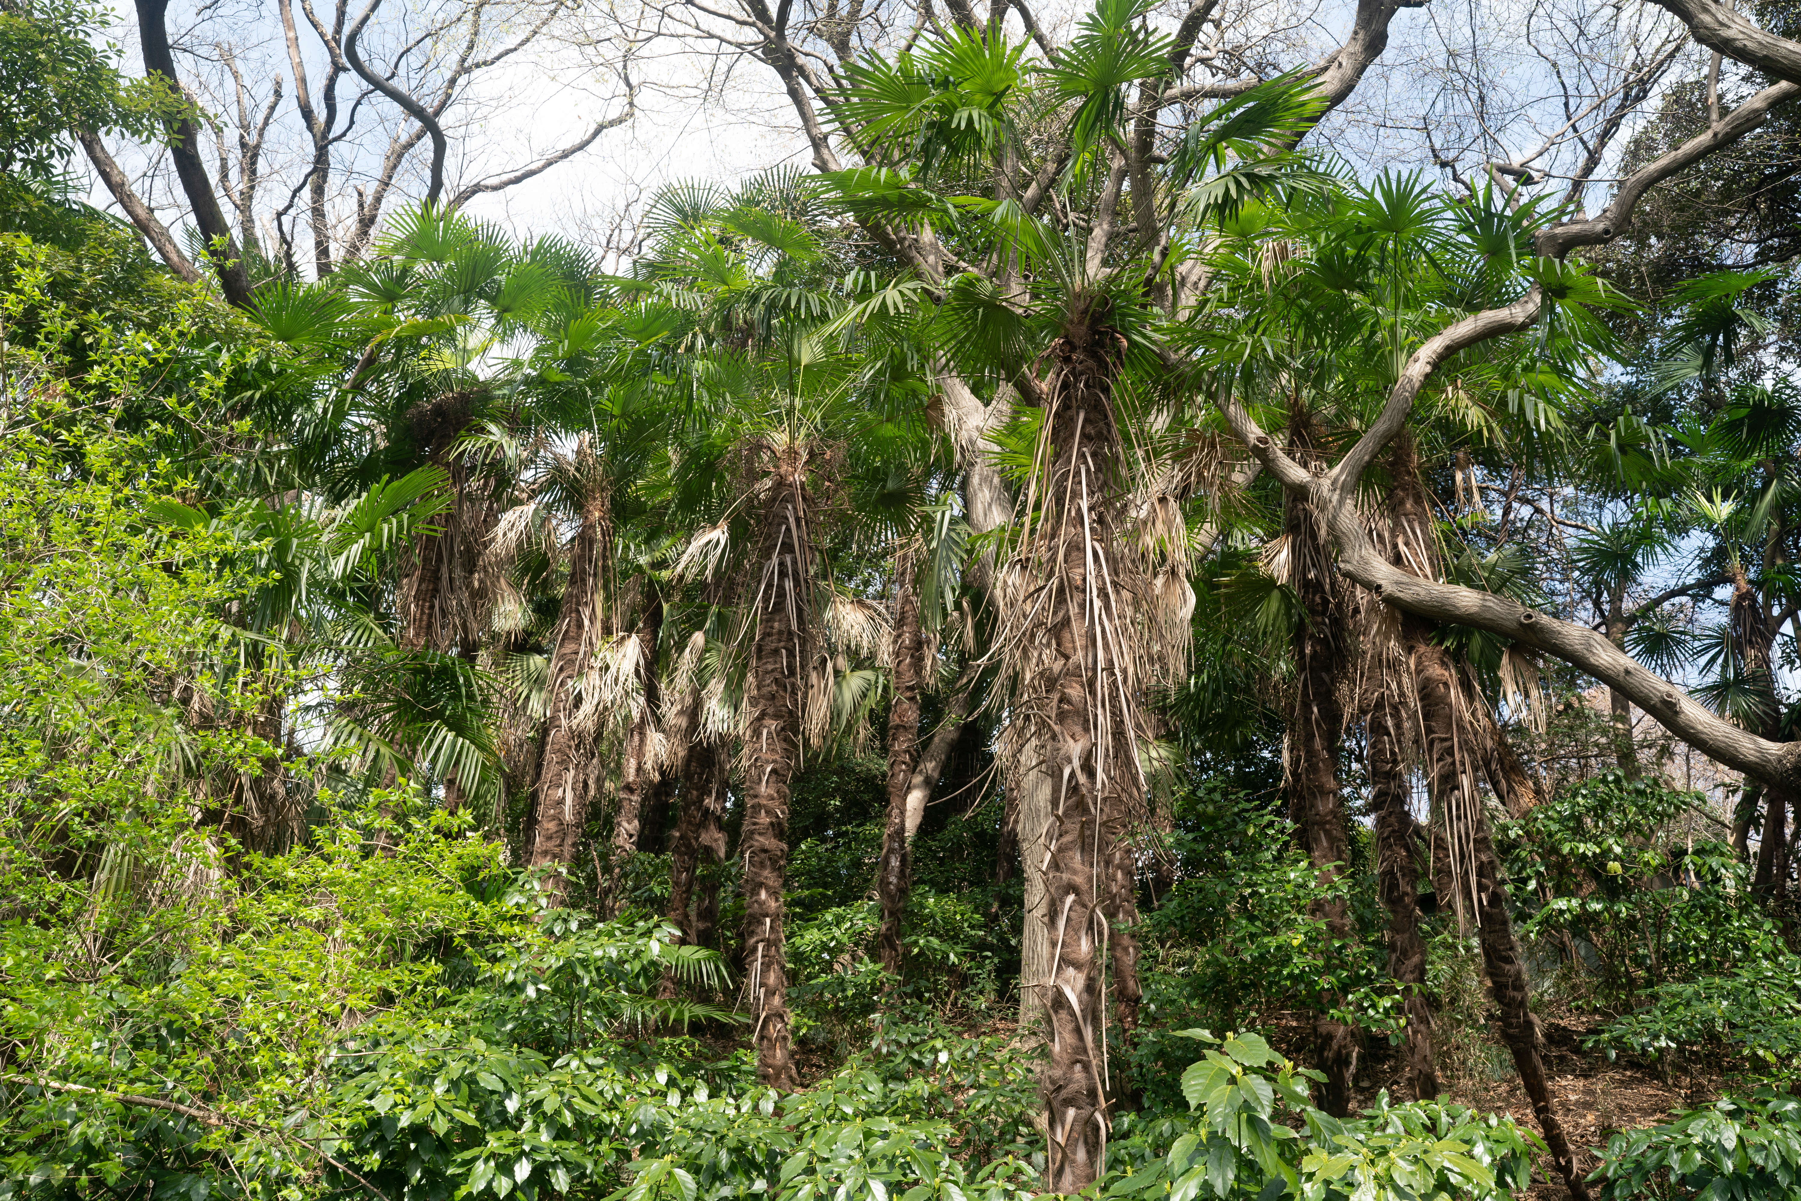
M 1039 989 L 1050 1061 L 1039 1079 L 1050 1136 L 1046 1187 L 1081 1192 L 1104 1170 L 1108 1118 L 1106 967 L 1133 971 L 1133 935 L 1117 927 L 1117 839 L 1142 807 L 1131 709 L 1133 637 L 1117 537 L 1118 335 L 1077 313 L 1052 344 L 1036 555 L 1045 636 L 1030 664 L 1032 751 L 1050 781 L 1043 834 L 1050 967 Z M 1124 944 L 1124 947 L 1122 947 Z M 1129 981 L 1136 994 L 1136 976 Z

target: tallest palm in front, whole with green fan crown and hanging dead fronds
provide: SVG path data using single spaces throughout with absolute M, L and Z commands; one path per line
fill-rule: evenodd
M 1052 1053 L 1043 1077 L 1048 1181 L 1066 1192 L 1102 1170 L 1102 963 L 1122 1028 L 1136 1017 L 1126 929 L 1136 873 L 1126 835 L 1145 805 L 1140 693 L 1154 682 L 1153 666 L 1180 673 L 1180 654 L 1147 643 L 1171 625 L 1153 612 L 1151 576 L 1180 573 L 1165 573 L 1129 537 L 1151 506 L 1135 497 L 1129 450 L 1138 448 L 1122 436 L 1120 412 L 1144 403 L 1140 423 L 1158 429 L 1174 416 L 1149 396 L 1163 369 L 1156 326 L 1181 308 L 1181 288 L 1165 274 L 1171 247 L 1272 185 L 1282 164 L 1270 153 L 1322 108 L 1282 81 L 1192 124 L 1171 148 L 1167 171 L 1133 171 L 1122 148 L 1142 149 L 1149 135 L 1138 139 L 1131 126 L 1126 86 L 1158 86 L 1185 56 L 1180 38 L 1149 32 L 1142 16 L 1131 2 L 1099 4 L 1054 65 L 1034 65 L 1025 47 L 974 29 L 850 65 L 836 115 L 866 166 L 827 176 L 836 202 L 911 263 L 908 277 L 857 306 L 857 321 L 904 312 L 924 324 L 929 315 L 928 360 L 955 364 L 960 380 L 992 380 L 998 398 L 1037 409 L 1032 470 L 1007 544 L 1012 562 L 996 589 L 1018 715 L 1005 738 L 1009 790 L 1019 794 L 1021 826 L 1043 844 L 1043 855 L 1028 850 L 1028 897 L 1041 884 L 1043 908 L 1027 918 L 1025 974 Z M 1032 155 L 1021 130 L 1045 112 L 1066 124 L 1072 155 L 1043 164 L 1043 180 L 1021 200 L 1009 185 L 1012 164 Z M 992 193 L 953 200 L 942 191 L 971 180 Z M 1095 212 L 1086 230 L 1036 214 L 1052 185 Z M 1135 236 L 1122 229 L 1127 205 Z M 955 405 L 958 414 L 976 409 Z M 1185 582 L 1162 598 L 1180 607 Z

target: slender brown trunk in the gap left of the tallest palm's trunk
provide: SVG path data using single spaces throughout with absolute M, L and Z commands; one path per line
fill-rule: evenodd
M 882 857 L 875 870 L 875 891 L 882 902 L 882 924 L 875 935 L 882 971 L 900 974 L 902 917 L 913 882 L 908 853 L 908 790 L 919 758 L 919 677 L 924 668 L 926 639 L 919 628 L 919 582 L 913 555 L 895 562 L 893 702 L 888 706 L 888 819 L 882 826 Z

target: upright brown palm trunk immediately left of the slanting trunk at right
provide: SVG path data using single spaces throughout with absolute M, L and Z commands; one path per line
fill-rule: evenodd
M 1426 1003 L 1426 942 L 1419 935 L 1419 837 L 1407 808 L 1407 722 L 1394 682 L 1372 688 L 1367 715 L 1369 792 L 1376 814 L 1376 875 L 1389 913 L 1389 974 L 1407 996 L 1407 1093 L 1439 1095 L 1432 1059 L 1432 1007 Z

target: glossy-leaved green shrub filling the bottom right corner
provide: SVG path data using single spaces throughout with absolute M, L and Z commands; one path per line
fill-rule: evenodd
M 1758 1089 L 1623 1131 L 1590 1181 L 1601 1201 L 1770 1201 L 1801 1197 L 1801 1100 Z

